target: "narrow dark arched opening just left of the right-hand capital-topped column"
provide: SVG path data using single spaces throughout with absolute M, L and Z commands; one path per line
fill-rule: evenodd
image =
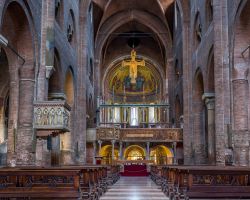
M 196 164 L 207 162 L 206 134 L 205 134 L 205 105 L 202 100 L 204 94 L 204 79 L 200 68 L 197 69 L 194 78 L 193 89 L 193 145 L 195 150 L 194 160 Z

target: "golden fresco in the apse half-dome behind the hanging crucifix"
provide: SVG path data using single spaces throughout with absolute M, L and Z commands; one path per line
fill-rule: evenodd
M 133 83 L 129 75 L 129 66 L 122 67 L 119 64 L 109 77 L 109 91 L 114 91 L 115 95 L 124 95 L 125 93 L 126 96 L 138 95 L 139 93 L 154 94 L 158 87 L 158 81 L 156 81 L 153 71 L 147 66 L 138 66 L 137 70 L 137 78 Z

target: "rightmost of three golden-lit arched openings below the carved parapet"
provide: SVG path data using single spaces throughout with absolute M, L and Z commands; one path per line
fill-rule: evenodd
M 150 151 L 150 160 L 153 160 L 156 165 L 173 164 L 173 158 L 172 151 L 164 145 L 157 145 Z

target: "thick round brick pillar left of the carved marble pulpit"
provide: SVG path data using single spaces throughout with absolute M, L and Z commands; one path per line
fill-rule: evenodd
M 19 108 L 17 123 L 17 165 L 35 165 L 36 135 L 33 129 L 35 69 L 26 61 L 19 70 Z

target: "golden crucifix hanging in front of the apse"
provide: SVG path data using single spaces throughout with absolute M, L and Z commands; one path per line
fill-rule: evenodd
M 122 67 L 129 66 L 129 76 L 131 78 L 131 83 L 136 83 L 137 78 L 137 67 L 143 66 L 145 67 L 145 61 L 136 61 L 136 51 L 132 49 L 131 51 L 131 60 L 130 61 L 122 61 Z

